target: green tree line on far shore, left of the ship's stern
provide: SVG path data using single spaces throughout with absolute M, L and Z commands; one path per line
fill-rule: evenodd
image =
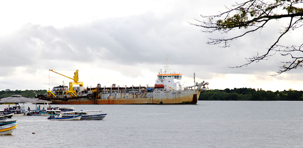
M 22 97 L 34 98 L 36 94 L 43 95 L 44 93 L 46 93 L 46 91 L 47 90 L 10 90 L 10 89 L 6 89 L 6 90 L 0 91 L 0 98 L 6 98 L 6 97 L 10 97 L 12 95 L 21 95 Z

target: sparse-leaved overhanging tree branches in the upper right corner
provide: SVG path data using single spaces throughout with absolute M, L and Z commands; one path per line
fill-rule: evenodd
M 252 62 L 259 62 L 260 60 L 267 60 L 276 52 L 282 56 L 289 56 L 289 61 L 281 61 L 283 64 L 279 66 L 277 74 L 302 67 L 303 57 L 298 56 L 303 53 L 303 44 L 301 45 L 280 45 L 279 41 L 283 35 L 290 33 L 291 30 L 296 30 L 303 25 L 303 0 L 249 0 L 243 3 L 236 3 L 228 11 L 218 15 L 201 15 L 202 20 L 198 20 L 196 25 L 202 27 L 202 32 L 220 32 L 226 34 L 236 29 L 245 29 L 242 34 L 235 35 L 231 38 L 220 37 L 217 39 L 209 38 L 207 42 L 210 45 L 220 44 L 221 47 L 228 47 L 229 42 L 247 35 L 251 32 L 261 31 L 266 24 L 271 21 L 276 21 L 281 18 L 288 20 L 288 25 L 280 30 L 280 35 L 276 37 L 269 47 L 266 48 L 264 54 L 259 54 L 251 58 L 246 58 L 247 62 L 242 67 L 251 64 Z M 232 68 L 235 68 L 232 67 Z

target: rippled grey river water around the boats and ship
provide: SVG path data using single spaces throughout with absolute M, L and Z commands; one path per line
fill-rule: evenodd
M 0 136 L 0 147 L 303 147 L 303 102 L 299 101 L 55 106 L 102 110 L 108 115 L 91 121 L 13 116 L 18 126 L 11 136 Z M 5 107 L 0 105 L 2 110 Z

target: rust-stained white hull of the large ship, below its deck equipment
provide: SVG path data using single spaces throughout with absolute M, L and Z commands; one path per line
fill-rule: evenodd
M 120 98 L 115 97 L 117 95 L 108 95 L 108 97 L 104 98 L 104 94 L 101 94 L 100 98 L 104 99 L 48 100 L 52 101 L 52 104 L 197 104 L 199 95 L 200 90 L 196 89 L 185 91 L 159 91 L 154 92 L 152 95 L 153 97 L 140 98 L 136 98 L 138 95 L 133 95 L 133 98 Z M 118 94 L 118 96 L 123 96 L 123 94 Z

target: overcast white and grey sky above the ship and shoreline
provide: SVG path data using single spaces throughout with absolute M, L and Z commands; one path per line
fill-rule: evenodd
M 206 44 L 209 37 L 191 23 L 216 15 L 235 1 L 1 1 L 0 90 L 52 89 L 79 70 L 84 86 L 154 86 L 168 55 L 185 85 L 208 82 L 209 89 L 302 90 L 302 68 L 270 76 L 286 57 L 276 54 L 242 68 L 245 58 L 264 53 L 283 20 L 230 42 Z M 302 29 L 281 42 L 300 43 Z M 228 34 L 234 35 L 234 34 Z M 228 67 L 229 66 L 229 67 Z

